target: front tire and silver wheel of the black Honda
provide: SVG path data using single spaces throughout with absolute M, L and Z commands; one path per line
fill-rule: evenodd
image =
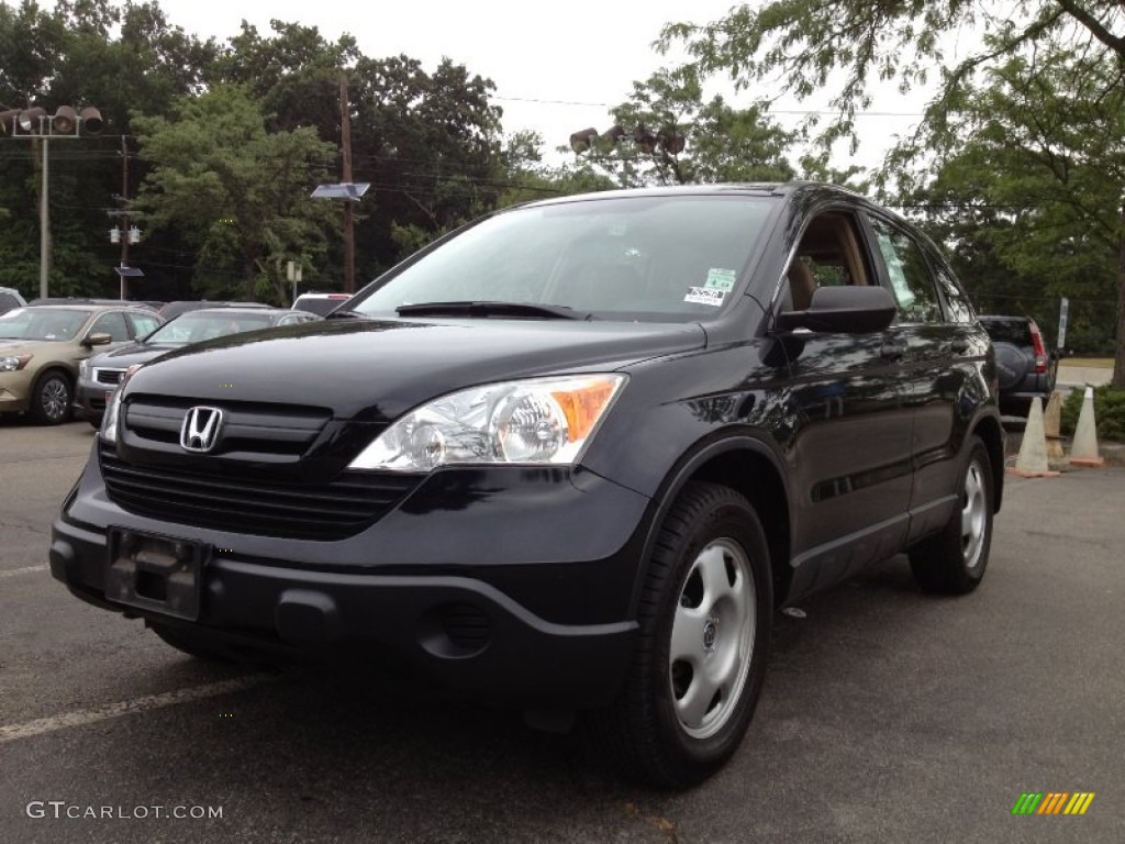
M 729 487 L 687 485 L 648 564 L 624 688 L 592 713 L 596 751 L 649 784 L 706 779 L 754 716 L 772 616 L 770 551 L 754 509 Z

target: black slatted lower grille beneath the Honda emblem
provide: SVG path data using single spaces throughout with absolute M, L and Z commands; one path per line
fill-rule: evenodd
M 417 475 L 341 472 L 323 484 L 246 479 L 163 466 L 137 466 L 100 443 L 109 500 L 137 515 L 198 528 L 288 539 L 354 536 L 385 515 Z

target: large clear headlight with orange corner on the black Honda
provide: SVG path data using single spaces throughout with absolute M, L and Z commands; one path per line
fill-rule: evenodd
M 574 464 L 624 381 L 623 375 L 580 375 L 452 393 L 399 419 L 349 468 Z

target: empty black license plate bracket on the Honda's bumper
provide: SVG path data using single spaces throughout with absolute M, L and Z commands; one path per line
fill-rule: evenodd
M 199 620 L 204 567 L 212 547 L 125 528 L 109 528 L 106 599 L 162 616 Z

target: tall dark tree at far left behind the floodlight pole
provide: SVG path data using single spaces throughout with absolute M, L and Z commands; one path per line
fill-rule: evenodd
M 171 26 L 155 2 L 63 0 L 50 10 L 29 0 L 0 2 L 0 104 L 48 113 L 63 104 L 93 105 L 106 123 L 99 137 L 51 144 L 52 291 L 117 290 L 106 212 L 111 195 L 123 192 L 122 136 L 130 134 L 130 110 L 160 114 L 174 97 L 198 90 L 213 51 L 210 42 Z M 26 140 L 0 142 L 0 205 L 10 210 L 0 227 L 0 284 L 25 295 L 38 276 L 39 149 Z M 132 164 L 132 176 L 143 177 L 143 162 Z

